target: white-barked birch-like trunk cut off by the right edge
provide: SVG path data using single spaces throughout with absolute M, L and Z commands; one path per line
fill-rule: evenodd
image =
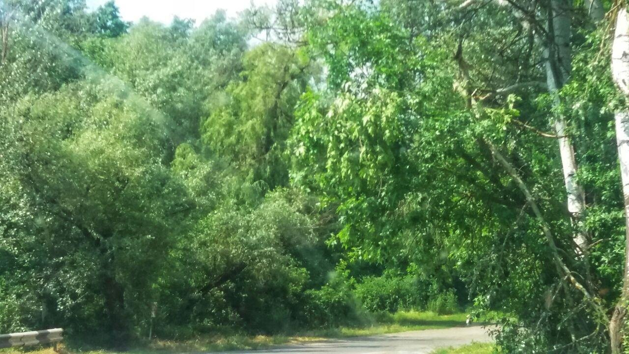
M 611 49 L 611 71 L 618 88 L 629 98 L 629 18 L 627 9 L 618 12 L 616 33 Z M 619 111 L 615 115 L 616 144 L 623 183 L 625 200 L 625 227 L 629 232 L 629 112 Z M 623 289 L 610 321 L 611 351 L 620 354 L 622 351 L 623 328 L 625 327 L 627 305 L 629 304 L 629 234 L 625 233 L 625 270 L 623 272 Z

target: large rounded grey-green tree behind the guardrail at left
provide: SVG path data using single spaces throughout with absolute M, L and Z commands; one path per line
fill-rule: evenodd
M 154 112 L 76 84 L 18 101 L 3 122 L 2 219 L 11 237 L 1 247 L 13 263 L 4 274 L 36 299 L 14 326 L 81 323 L 70 328 L 80 335 L 101 327 L 104 313 L 105 326 L 133 328 L 172 244 L 165 219 L 186 207 L 160 164 Z

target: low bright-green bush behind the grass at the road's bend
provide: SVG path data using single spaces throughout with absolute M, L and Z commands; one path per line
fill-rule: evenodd
M 366 277 L 354 293 L 367 311 L 396 312 L 399 309 L 421 309 L 426 305 L 426 288 L 417 278 Z

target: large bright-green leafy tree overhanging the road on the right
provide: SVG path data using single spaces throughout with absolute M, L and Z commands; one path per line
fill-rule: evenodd
M 394 13 L 401 6 L 394 1 L 386 4 L 386 11 Z M 479 8 L 468 8 L 474 16 L 465 15 L 460 8 L 450 9 L 455 20 L 431 28 L 426 32 L 430 39 L 426 39 L 414 34 L 421 26 L 412 18 L 401 16 L 404 21 L 398 26 L 387 21 L 386 11 L 364 3 L 354 5 L 339 5 L 334 15 L 312 30 L 310 38 L 315 39 L 315 48 L 321 43 L 321 55 L 329 67 L 328 86 L 321 93 L 304 96 L 294 130 L 297 135 L 291 139 L 298 162 L 293 178 L 339 205 L 345 227 L 338 240 L 355 258 L 403 259 L 401 264 L 412 261 L 426 270 L 439 264 L 430 257 L 435 249 L 449 254 L 456 263 L 445 265 L 461 271 L 474 289 L 470 297 L 477 305 L 518 313 L 516 322 L 505 320 L 499 336 L 508 351 L 517 352 L 521 347 L 542 351 L 605 348 L 608 339 L 601 328 L 609 319 L 606 305 L 600 304 L 615 301 L 616 293 L 601 290 L 616 280 L 615 275 L 610 276 L 606 259 L 618 260 L 619 255 L 616 241 L 606 241 L 604 235 L 618 229 L 615 222 L 604 225 L 594 220 L 613 214 L 603 209 L 616 206 L 614 197 L 606 197 L 613 195 L 615 186 L 587 173 L 609 166 L 610 151 L 601 144 L 608 134 L 604 129 L 607 116 L 593 117 L 584 127 L 571 126 L 572 141 L 581 144 L 577 146 L 584 156 L 580 181 L 592 188 L 589 197 L 596 214 L 583 215 L 579 232 L 587 229 L 598 244 L 614 244 L 608 244 L 613 253 L 593 249 L 582 261 L 569 256 L 575 229 L 560 202 L 565 186 L 557 172 L 562 171 L 562 164 L 555 158 L 556 147 L 550 145 L 554 140 L 548 140 L 558 135 L 538 128 L 547 125 L 548 117 L 563 115 L 569 122 L 568 118 L 582 119 L 583 114 L 566 108 L 579 86 L 566 80 L 572 57 L 565 57 L 565 35 L 559 38 L 564 44 L 564 63 L 555 52 L 545 54 L 563 66 L 559 67 L 564 77 L 562 88 L 544 94 L 547 84 L 540 84 L 548 68 L 538 59 L 544 58 L 545 48 L 555 50 L 556 43 L 547 40 L 559 40 L 540 35 L 547 23 L 542 16 L 553 10 L 548 12 L 546 3 L 537 4 L 540 7 L 536 5 L 530 12 L 516 9 L 515 16 L 510 6 L 479 3 Z M 565 34 L 566 20 L 559 33 Z M 464 33 L 462 38 L 457 38 L 459 30 Z M 541 38 L 536 39 L 538 35 Z M 386 44 L 380 45 L 380 40 Z M 423 47 L 422 40 L 432 47 L 451 48 L 455 60 Z M 589 52 L 589 43 L 570 44 Z M 522 59 L 521 52 L 532 53 L 531 60 Z M 420 59 L 413 61 L 404 55 Z M 459 75 L 453 78 L 454 64 Z M 577 75 L 585 70 L 579 62 Z M 555 72 L 550 77 L 555 77 Z M 452 81 L 462 93 L 461 99 L 453 96 Z M 522 100 L 509 96 L 513 93 Z M 537 105 L 533 104 L 536 99 Z M 598 104 L 591 103 L 593 107 L 587 110 L 596 111 Z M 377 128 L 369 128 L 372 118 Z M 394 138 L 387 140 L 387 133 Z M 404 154 L 397 152 L 400 147 Z M 499 163 L 498 156 L 506 163 Z M 598 156 L 598 161 L 590 156 Z M 398 168 L 391 167 L 391 171 L 401 173 L 389 173 L 389 166 L 398 161 Z M 599 195 L 604 196 L 603 201 Z M 533 208 L 530 200 L 537 207 Z M 546 225 L 545 237 L 533 231 L 543 231 L 540 223 Z M 593 223 L 600 229 L 593 229 Z M 523 262 L 524 258 L 527 261 Z M 589 269 L 587 262 L 594 269 Z M 496 271 L 488 274 L 488 265 Z M 584 276 L 572 277 L 572 273 Z M 521 295 L 516 300 L 510 292 Z M 559 292 L 549 305 L 540 304 L 547 294 Z M 609 295 L 601 299 L 599 294 Z M 588 315 L 574 318 L 575 308 Z M 558 318 L 566 325 L 556 326 Z

